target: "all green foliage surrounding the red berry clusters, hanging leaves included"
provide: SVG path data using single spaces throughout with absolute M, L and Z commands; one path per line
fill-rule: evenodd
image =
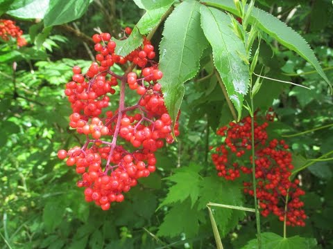
M 267 132 L 291 147 L 308 216 L 286 237 L 281 221 L 262 217 L 262 248 L 332 248 L 332 3 L 257 0 L 250 12 L 235 5 L 243 1 L 158 2 L 0 1 L 1 19 L 15 20 L 28 42 L 0 41 L 0 247 L 216 248 L 213 217 L 224 248 L 257 248 L 255 214 L 237 209 L 254 206 L 242 191 L 246 179 L 216 176 L 210 146 L 223 142 L 218 127 L 248 115 L 259 79 L 254 110 L 273 107 Z M 133 33 L 123 40 L 125 26 Z M 160 45 L 167 108 L 173 120 L 182 112 L 178 142 L 156 155 L 156 172 L 107 212 L 80 201 L 78 178 L 56 156 L 85 141 L 68 126 L 63 90 L 73 66 L 87 71 L 98 27 L 112 33 L 119 55 L 140 46 L 141 35 Z M 311 90 L 250 75 L 251 64 L 257 75 Z M 210 206 L 210 216 L 208 203 L 228 208 Z

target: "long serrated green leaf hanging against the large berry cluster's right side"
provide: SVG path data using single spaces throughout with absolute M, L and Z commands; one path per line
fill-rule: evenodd
M 182 98 L 183 83 L 198 73 L 200 57 L 207 40 L 200 28 L 200 3 L 184 1 L 164 24 L 160 44 L 160 80 L 164 101 L 173 122 L 176 120 Z

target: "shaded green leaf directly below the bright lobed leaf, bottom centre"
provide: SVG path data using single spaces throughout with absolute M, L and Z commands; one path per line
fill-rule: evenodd
M 178 203 L 164 216 L 163 223 L 157 232 L 157 236 L 176 237 L 185 232 L 186 237 L 194 237 L 198 234 L 199 216 L 196 206 L 191 208 L 190 200 Z

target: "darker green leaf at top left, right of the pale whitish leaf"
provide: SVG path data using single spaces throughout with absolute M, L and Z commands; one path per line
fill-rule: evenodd
M 55 26 L 74 21 L 87 11 L 89 0 L 51 1 L 44 17 L 44 26 Z

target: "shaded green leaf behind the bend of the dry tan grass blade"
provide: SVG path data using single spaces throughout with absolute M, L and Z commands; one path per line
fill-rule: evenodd
M 241 194 L 241 187 L 239 185 L 225 181 L 218 176 L 209 176 L 203 178 L 203 181 L 200 182 L 198 210 L 205 209 L 209 202 L 242 206 L 242 199 L 243 195 Z M 222 236 L 234 228 L 238 224 L 239 219 L 242 219 L 245 215 L 244 211 L 241 210 L 218 207 L 210 208 Z

